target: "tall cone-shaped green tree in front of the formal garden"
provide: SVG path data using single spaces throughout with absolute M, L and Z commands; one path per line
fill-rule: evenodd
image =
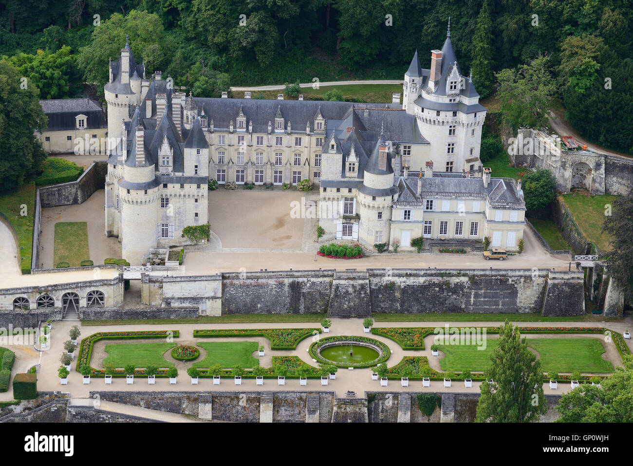
M 499 328 L 498 346 L 484 372 L 494 382 L 481 384 L 476 422 L 536 422 L 547 405 L 541 362 L 520 339 L 517 327 L 506 320 Z

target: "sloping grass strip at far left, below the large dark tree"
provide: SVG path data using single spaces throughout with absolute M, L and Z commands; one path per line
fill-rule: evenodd
M 28 274 L 31 270 L 35 189 L 34 184 L 25 184 L 18 188 L 16 192 L 9 192 L 0 196 L 0 214 L 4 215 L 9 221 L 18 236 L 23 274 Z M 26 215 L 21 215 L 22 213 Z M 10 258 L 4 259 L 10 260 Z

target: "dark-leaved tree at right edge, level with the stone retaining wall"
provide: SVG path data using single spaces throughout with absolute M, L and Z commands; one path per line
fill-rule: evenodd
M 605 207 L 606 208 L 606 207 Z M 606 270 L 611 279 L 622 286 L 625 299 L 633 297 L 633 191 L 625 198 L 617 198 L 611 206 L 611 215 L 605 217 L 602 231 L 611 235 L 611 249 L 606 253 Z

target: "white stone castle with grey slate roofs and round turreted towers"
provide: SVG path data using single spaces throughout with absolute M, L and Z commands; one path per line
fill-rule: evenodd
M 132 265 L 149 248 L 184 244 L 208 221 L 208 180 L 318 186 L 320 225 L 337 239 L 411 249 L 416 237 L 516 250 L 520 183 L 491 179 L 479 160 L 486 108 L 461 74 L 450 39 L 422 69 L 416 51 L 403 104 L 194 98 L 148 79 L 128 44 L 104 87 L 112 144 L 106 234 Z M 397 95 L 397 94 L 396 94 Z M 411 168 L 411 170 L 410 170 Z M 417 171 L 413 169 L 418 168 Z M 213 228 L 213 226 L 211 227 Z

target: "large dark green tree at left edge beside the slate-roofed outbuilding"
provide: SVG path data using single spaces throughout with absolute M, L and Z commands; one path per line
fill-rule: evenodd
M 46 159 L 35 136 L 44 127 L 37 87 L 0 60 L 0 191 L 15 191 Z

